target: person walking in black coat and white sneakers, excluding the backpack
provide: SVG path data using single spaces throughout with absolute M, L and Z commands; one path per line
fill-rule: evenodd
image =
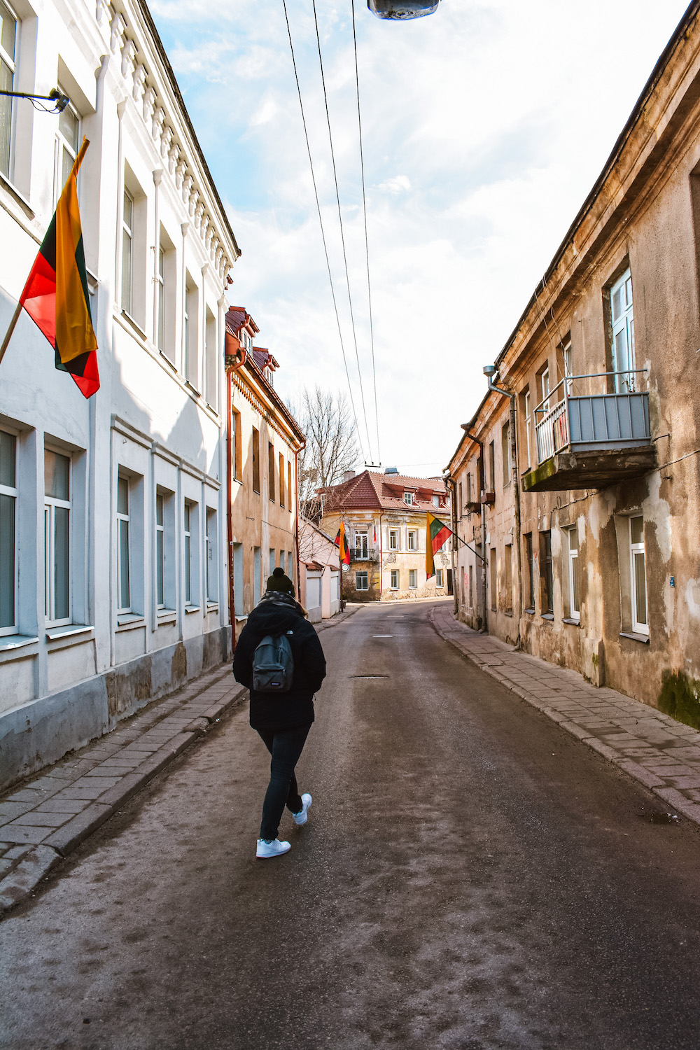
M 250 722 L 270 752 L 270 783 L 262 803 L 256 856 L 279 857 L 292 848 L 277 838 L 284 806 L 296 824 L 305 824 L 312 797 L 299 795 L 294 768 L 314 721 L 314 693 L 325 677 L 325 657 L 313 625 L 295 601 L 294 584 L 277 567 L 240 632 L 233 657 L 236 681 L 250 690 Z M 283 635 L 294 660 L 289 692 L 262 693 L 253 688 L 255 649 L 267 635 Z

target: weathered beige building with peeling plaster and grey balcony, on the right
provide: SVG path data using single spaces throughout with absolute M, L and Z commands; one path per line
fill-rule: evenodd
M 700 724 L 700 21 L 688 7 L 450 461 L 460 617 Z

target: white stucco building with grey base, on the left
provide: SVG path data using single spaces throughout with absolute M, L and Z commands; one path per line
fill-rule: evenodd
M 226 288 L 239 254 L 140 0 L 0 0 L 0 338 L 83 135 L 101 388 L 23 315 L 0 364 L 0 784 L 230 651 Z

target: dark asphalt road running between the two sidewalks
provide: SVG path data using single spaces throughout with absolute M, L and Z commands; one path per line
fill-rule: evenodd
M 321 635 L 284 857 L 243 705 L 9 914 L 0 1046 L 697 1050 L 700 830 L 427 611 Z

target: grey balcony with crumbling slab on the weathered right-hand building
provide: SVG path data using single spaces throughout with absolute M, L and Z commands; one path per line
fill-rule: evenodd
M 634 372 L 567 376 L 534 410 L 537 466 L 523 476 L 525 492 L 606 488 L 656 466 L 649 426 L 649 393 L 635 390 Z M 614 378 L 620 391 L 573 396 L 574 384 Z M 602 382 L 599 382 L 602 385 Z M 552 404 L 560 392 L 560 400 Z

